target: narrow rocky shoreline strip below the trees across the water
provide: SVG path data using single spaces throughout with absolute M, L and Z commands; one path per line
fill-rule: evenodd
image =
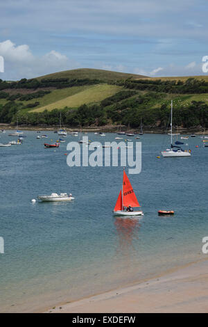
M 28 125 L 19 125 L 19 129 L 22 129 L 24 131 L 58 131 L 59 127 L 57 126 L 46 126 L 46 125 L 40 125 L 40 126 L 28 126 Z M 15 125 L 10 124 L 3 124 L 0 123 L 0 130 L 6 129 L 6 130 L 16 130 L 17 127 Z M 79 127 L 65 127 L 66 131 L 80 131 Z M 116 133 L 118 132 L 119 127 L 116 125 L 105 125 L 105 126 L 89 126 L 89 127 L 82 127 L 83 132 L 105 132 L 105 133 Z M 121 131 L 127 131 L 127 128 L 125 126 L 121 127 Z M 139 128 L 137 129 L 129 129 L 128 132 L 132 133 L 139 133 Z M 208 130 L 202 129 L 202 127 L 193 127 L 190 129 L 184 129 L 182 127 L 179 127 L 177 130 L 175 129 L 173 133 L 179 133 L 179 134 L 196 134 L 196 135 L 208 135 Z M 166 129 L 159 129 L 159 128 L 146 128 L 144 127 L 144 134 L 166 134 Z

